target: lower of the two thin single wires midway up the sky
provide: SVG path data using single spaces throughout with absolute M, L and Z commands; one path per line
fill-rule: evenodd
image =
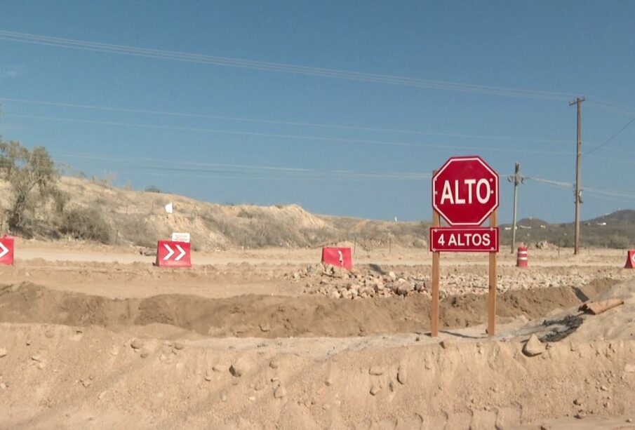
M 470 146 L 460 146 L 460 145 L 445 145 L 442 143 L 430 144 L 430 143 L 412 143 L 412 142 L 398 142 L 398 141 L 384 141 L 384 140 L 350 139 L 350 138 L 343 138 L 343 137 L 320 137 L 320 136 L 314 136 L 314 135 L 288 135 L 288 134 L 281 134 L 281 133 L 261 133 L 261 132 L 239 131 L 239 130 L 222 130 L 222 129 L 216 129 L 216 128 L 160 126 L 156 124 L 123 123 L 118 121 L 95 121 L 95 120 L 88 120 L 88 119 L 70 119 L 70 118 L 60 118 L 55 116 L 22 115 L 22 114 L 5 114 L 5 115 L 13 116 L 16 118 L 100 124 L 105 126 L 156 128 L 159 130 L 180 130 L 180 131 L 193 131 L 193 132 L 200 132 L 200 133 L 247 135 L 247 136 L 255 136 L 255 137 L 276 137 L 276 138 L 283 138 L 283 139 L 312 140 L 312 141 L 320 141 L 320 142 L 347 143 L 347 144 L 360 144 L 360 145 L 379 145 L 379 146 L 415 147 L 415 148 L 427 147 L 427 148 L 441 148 L 441 149 L 466 149 L 466 150 L 478 150 L 478 151 L 490 151 L 490 152 L 514 152 L 514 153 L 522 152 L 526 154 L 570 155 L 570 152 L 537 151 L 532 149 L 516 149 L 516 148 L 504 149 L 504 148 L 492 148 L 492 147 L 470 147 Z

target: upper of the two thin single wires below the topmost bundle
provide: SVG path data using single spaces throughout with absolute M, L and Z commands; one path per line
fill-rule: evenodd
M 323 124 L 323 123 L 309 123 L 302 121 L 283 121 L 283 120 L 270 120 L 270 119 L 254 119 L 254 118 L 245 118 L 238 116 L 221 116 L 221 115 L 210 115 L 210 114 L 189 114 L 185 112 L 166 112 L 152 109 L 130 109 L 125 107 L 107 107 L 107 106 L 98 106 L 98 105 L 81 105 L 76 103 L 64 103 L 64 102 L 48 102 L 43 100 L 25 100 L 18 98 L 6 98 L 0 97 L 0 100 L 8 101 L 8 102 L 18 102 L 18 103 L 26 103 L 33 105 L 46 105 L 46 106 L 57 106 L 57 107 L 70 107 L 76 109 L 95 109 L 102 111 L 110 111 L 110 112 L 126 112 L 126 113 L 135 113 L 135 114 L 153 114 L 153 115 L 165 115 L 165 116 L 180 116 L 180 117 L 188 117 L 188 118 L 203 118 L 203 119 L 220 119 L 223 121 L 244 121 L 244 122 L 253 122 L 253 123 L 266 123 L 266 124 L 279 124 L 285 126 L 306 126 L 306 127 L 316 127 L 316 128 L 334 128 L 334 129 L 342 129 L 342 130 L 359 130 L 359 131 L 372 131 L 372 132 L 380 132 L 380 133 L 399 133 L 399 134 L 410 134 L 410 135 L 432 135 L 432 136 L 444 136 L 444 137 L 465 137 L 465 138 L 473 138 L 473 139 L 495 139 L 495 140 L 514 140 L 514 141 L 523 141 L 523 142 L 544 142 L 544 143 L 566 143 L 568 140 L 564 139 L 540 139 L 540 138 L 531 138 L 531 137 L 507 137 L 507 136 L 490 136 L 490 135 L 472 135 L 472 134 L 464 134 L 464 133 L 438 133 L 438 132 L 426 132 L 419 130 L 401 130 L 396 128 L 374 128 L 374 127 L 362 127 L 362 126 L 340 126 L 335 124 Z

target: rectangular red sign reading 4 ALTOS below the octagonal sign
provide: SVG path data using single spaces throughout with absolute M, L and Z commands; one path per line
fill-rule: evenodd
M 433 253 L 497 253 L 498 227 L 430 227 L 430 250 Z

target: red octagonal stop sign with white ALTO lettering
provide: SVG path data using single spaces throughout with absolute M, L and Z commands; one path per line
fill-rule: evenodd
M 451 157 L 432 176 L 432 207 L 452 226 L 483 224 L 498 207 L 498 173 L 479 156 Z

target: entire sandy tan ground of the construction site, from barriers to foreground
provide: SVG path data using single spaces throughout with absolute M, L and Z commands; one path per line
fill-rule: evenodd
M 357 281 L 424 288 L 354 300 L 321 293 L 347 278 L 297 276 L 319 250 L 194 253 L 192 269 L 145 251 L 18 241 L 0 267 L 0 428 L 635 429 L 624 251 L 530 250 L 529 269 L 500 253 L 493 337 L 487 257 L 444 254 L 439 338 L 425 250 L 356 250 Z M 577 310 L 610 297 L 624 304 Z

